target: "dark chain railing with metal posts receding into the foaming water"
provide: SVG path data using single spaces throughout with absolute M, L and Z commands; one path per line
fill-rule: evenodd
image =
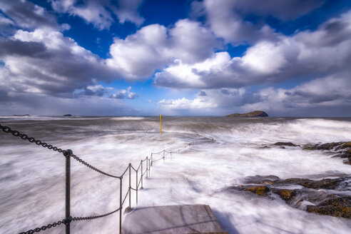
M 48 148 L 50 150 L 53 151 L 57 151 L 59 153 L 62 153 L 63 156 L 65 157 L 66 160 L 66 172 L 65 172 L 65 180 L 66 180 L 66 193 L 65 193 L 65 207 L 66 207 L 66 212 L 65 212 L 65 218 L 63 220 L 59 220 L 57 222 L 54 223 L 49 223 L 48 225 L 44 225 L 41 228 L 34 228 L 31 230 L 27 230 L 26 232 L 21 232 L 19 234 L 32 234 L 32 233 L 39 233 L 41 230 L 46 230 L 49 228 L 54 228 L 56 226 L 59 226 L 61 224 L 64 224 L 66 226 L 66 234 L 69 234 L 71 231 L 71 222 L 74 221 L 81 221 L 81 220 L 93 220 L 96 218 L 103 218 L 106 217 L 108 215 L 112 215 L 113 213 L 116 213 L 119 211 L 119 233 L 122 233 L 122 210 L 123 210 L 123 205 L 126 202 L 126 199 L 128 198 L 128 207 L 127 210 L 131 209 L 131 190 L 134 190 L 136 192 L 136 204 L 138 204 L 138 190 L 139 188 L 142 189 L 143 188 L 143 178 L 144 175 L 146 175 L 146 178 L 148 178 L 150 176 L 150 169 L 151 166 L 153 166 L 153 163 L 156 161 L 161 161 L 163 160 L 163 162 L 166 159 L 166 153 L 169 153 L 171 155 L 172 158 L 172 153 L 178 153 L 180 151 L 182 151 L 184 148 L 187 148 L 188 146 L 194 144 L 193 143 L 188 143 L 185 146 L 183 146 L 182 148 L 178 149 L 177 151 L 160 151 L 157 153 L 151 153 L 151 156 L 147 156 L 146 158 L 144 158 L 143 160 L 141 160 L 141 162 L 139 163 L 137 168 L 134 168 L 132 166 L 131 163 L 128 164 L 127 168 L 125 171 L 123 171 L 123 173 L 121 175 L 111 175 L 110 173 L 106 173 L 104 171 L 99 170 L 98 168 L 92 166 L 91 164 L 87 163 L 86 161 L 83 161 L 83 159 L 79 158 L 78 156 L 73 154 L 73 151 L 71 151 L 70 149 L 67 150 L 63 150 L 61 148 L 57 148 L 56 146 L 52 146 L 51 144 L 42 142 L 40 140 L 36 140 L 33 137 L 29 137 L 24 133 L 19 133 L 19 131 L 15 131 L 12 130 L 11 128 L 9 128 L 8 126 L 2 126 L 0 124 L 0 129 L 2 131 L 4 131 L 5 133 L 10 133 L 13 136 L 19 137 L 25 141 L 29 141 L 31 143 L 36 143 L 36 145 L 38 146 L 43 146 L 44 148 Z M 154 159 L 153 156 L 154 155 L 160 155 L 160 157 L 158 157 L 157 159 Z M 110 213 L 105 213 L 102 215 L 93 215 L 93 216 L 87 216 L 87 217 L 72 217 L 71 216 L 71 158 L 76 159 L 76 161 L 78 161 L 79 163 L 83 164 L 84 166 L 90 168 L 93 171 L 96 171 L 97 173 L 101 173 L 102 175 L 106 175 L 112 178 L 117 178 L 120 180 L 120 194 L 119 194 L 119 207 L 116 210 L 111 211 Z M 145 163 L 144 163 L 145 162 Z M 146 168 L 145 171 L 143 170 L 143 165 L 145 164 Z M 136 173 L 136 185 L 135 188 L 132 187 L 132 182 L 131 182 L 131 170 L 133 170 Z M 139 170 L 140 174 L 139 174 Z M 126 173 L 128 172 L 128 177 L 129 177 L 129 184 L 128 184 L 128 190 L 126 192 L 126 195 L 124 195 L 123 197 L 123 193 L 122 193 L 122 185 L 123 185 L 123 176 L 126 175 Z M 138 174 L 140 175 L 140 177 L 138 177 Z M 122 199 L 123 198 L 123 199 Z

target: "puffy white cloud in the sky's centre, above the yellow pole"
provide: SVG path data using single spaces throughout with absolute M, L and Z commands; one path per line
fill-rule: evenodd
M 123 73 L 123 78 L 149 78 L 156 69 L 177 61 L 203 61 L 218 46 L 215 36 L 200 23 L 183 19 L 171 29 L 152 24 L 111 45 L 109 66 Z

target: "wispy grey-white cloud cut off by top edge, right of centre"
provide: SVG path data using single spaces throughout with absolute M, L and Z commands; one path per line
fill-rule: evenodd
M 296 19 L 321 6 L 323 0 L 205 0 L 193 1 L 192 15 L 205 16 L 216 36 L 233 44 L 252 41 L 274 41 L 277 35 L 263 21 L 258 24 L 245 20 L 245 16 L 275 16 L 278 19 Z

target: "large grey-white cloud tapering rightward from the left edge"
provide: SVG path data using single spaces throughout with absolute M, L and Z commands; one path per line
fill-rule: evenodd
M 9 93 L 69 95 L 76 88 L 118 77 L 105 61 L 50 28 L 18 30 L 0 40 L 0 86 Z

